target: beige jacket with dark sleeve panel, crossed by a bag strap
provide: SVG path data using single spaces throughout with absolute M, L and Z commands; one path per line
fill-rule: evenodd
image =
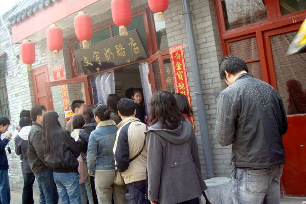
M 145 131 L 147 126 L 139 119 L 130 117 L 122 120 L 117 127 L 119 130 L 113 149 L 117 171 L 122 172 L 125 184 L 145 180 L 147 168 Z M 142 148 L 141 154 L 129 162 Z

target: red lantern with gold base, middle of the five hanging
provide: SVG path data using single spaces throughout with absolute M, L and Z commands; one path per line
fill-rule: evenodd
M 74 18 L 74 29 L 77 38 L 82 41 L 83 49 L 89 49 L 88 41 L 92 38 L 92 20 L 84 11 Z

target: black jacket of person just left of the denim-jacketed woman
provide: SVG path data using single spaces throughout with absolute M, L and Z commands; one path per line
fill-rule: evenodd
M 97 125 L 98 123 L 92 118 L 90 123 L 85 124 L 80 130 L 77 143 L 80 145 L 82 153 L 86 154 L 90 133 L 96 129 Z

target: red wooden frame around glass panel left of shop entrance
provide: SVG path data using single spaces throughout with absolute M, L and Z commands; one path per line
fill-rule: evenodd
M 85 89 L 85 97 L 86 97 L 86 103 L 87 104 L 93 104 L 92 100 L 92 90 L 91 86 L 88 80 L 88 77 L 79 77 L 79 78 L 73 78 L 73 79 L 67 79 L 67 80 L 59 80 L 59 81 L 53 81 L 45 83 L 46 90 L 47 90 L 47 103 L 48 103 L 48 109 L 54 110 L 53 103 L 52 103 L 52 93 L 51 93 L 51 87 L 52 86 L 59 86 L 59 85 L 65 85 L 65 84 L 73 84 L 73 83 L 84 83 L 84 89 Z

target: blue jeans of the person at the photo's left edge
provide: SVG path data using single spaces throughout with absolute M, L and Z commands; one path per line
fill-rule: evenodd
M 10 204 L 11 190 L 8 170 L 0 170 L 0 204 Z

